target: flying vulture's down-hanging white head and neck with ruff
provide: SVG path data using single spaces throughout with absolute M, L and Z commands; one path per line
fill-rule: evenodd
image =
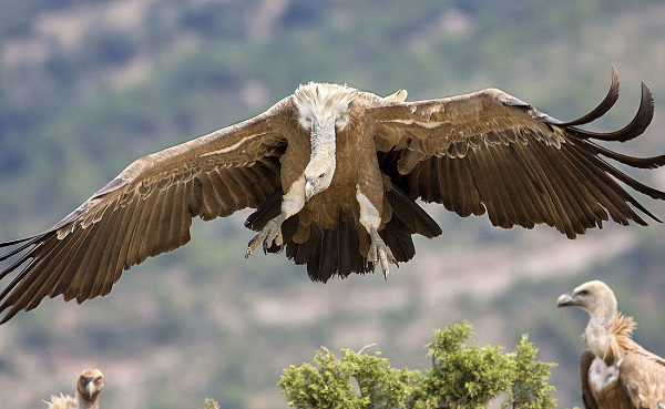
M 294 93 L 298 123 L 310 133 L 311 156 L 305 168 L 305 200 L 328 188 L 335 174 L 336 132 L 349 124 L 349 104 L 358 90 L 310 82 Z

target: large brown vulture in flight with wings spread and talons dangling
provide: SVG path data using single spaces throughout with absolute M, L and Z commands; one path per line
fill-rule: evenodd
M 53 227 L 0 244 L 16 246 L 0 260 L 22 254 L 0 273 L 16 273 L 0 293 L 0 311 L 9 309 L 0 324 L 47 295 L 79 303 L 106 295 L 124 269 L 187 243 L 193 217 L 245 207 L 256 209 L 245 225 L 258 232 L 245 256 L 286 247 L 320 282 L 377 264 L 386 275 L 416 254 L 411 235 L 440 235 L 418 198 L 463 217 L 487 211 L 504 228 L 545 223 L 569 238 L 610 217 L 646 225 L 635 208 L 657 221 L 620 182 L 653 198 L 665 193 L 605 159 L 654 168 L 665 155 L 632 157 L 592 142 L 644 132 L 654 110 L 646 84 L 624 129 L 577 127 L 618 98 L 614 67 L 607 96 L 571 122 L 497 89 L 406 96 L 309 83 L 256 117 L 137 160 Z

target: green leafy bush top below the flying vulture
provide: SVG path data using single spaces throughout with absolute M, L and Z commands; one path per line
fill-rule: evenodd
M 479 408 L 501 392 L 502 408 L 554 406 L 550 395 L 554 388 L 546 381 L 555 364 L 536 361 L 538 349 L 525 335 L 512 352 L 502 354 L 500 347 L 464 344 L 472 334 L 466 321 L 437 330 L 437 339 L 427 345 L 432 369 L 424 376 L 391 368 L 380 352 L 368 356 L 344 349 L 337 358 L 323 348 L 315 365 L 291 365 L 277 386 L 297 408 Z

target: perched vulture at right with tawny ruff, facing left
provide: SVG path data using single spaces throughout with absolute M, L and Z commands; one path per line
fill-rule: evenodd
M 605 283 L 584 283 L 556 305 L 580 307 L 591 316 L 582 336 L 590 349 L 580 358 L 586 409 L 665 408 L 665 359 L 631 339 L 635 321 L 616 311 L 616 298 Z

